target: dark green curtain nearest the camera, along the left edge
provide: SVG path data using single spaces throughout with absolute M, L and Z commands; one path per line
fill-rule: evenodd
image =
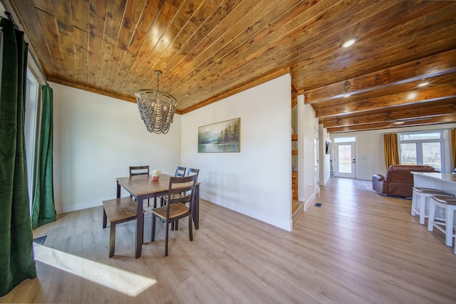
M 28 45 L 24 32 L 1 19 L 0 88 L 0 297 L 36 278 L 24 140 Z

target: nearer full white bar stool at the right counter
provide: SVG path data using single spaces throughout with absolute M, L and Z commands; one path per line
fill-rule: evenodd
M 454 212 L 456 211 L 456 198 L 440 195 L 430 196 L 430 206 L 429 206 L 429 219 L 427 221 L 427 230 L 432 231 L 435 227 L 442 231 L 445 234 L 445 245 L 452 246 L 453 237 L 453 219 Z M 445 209 L 445 219 L 443 221 L 435 221 L 435 206 L 439 206 L 442 209 Z M 445 229 L 443 228 L 445 227 Z

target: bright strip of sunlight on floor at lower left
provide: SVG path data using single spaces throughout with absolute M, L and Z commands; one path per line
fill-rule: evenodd
M 152 278 L 123 271 L 122 269 L 90 261 L 79 256 L 73 256 L 72 254 L 43 245 L 36 246 L 34 249 L 36 261 L 72 273 L 73 275 L 81 276 L 81 278 L 85 278 L 88 281 L 133 297 L 157 283 Z

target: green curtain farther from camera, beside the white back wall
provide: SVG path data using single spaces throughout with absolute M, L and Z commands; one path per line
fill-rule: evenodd
M 41 86 L 42 110 L 40 145 L 38 150 L 38 172 L 33 196 L 31 226 L 33 229 L 56 221 L 52 177 L 52 88 Z

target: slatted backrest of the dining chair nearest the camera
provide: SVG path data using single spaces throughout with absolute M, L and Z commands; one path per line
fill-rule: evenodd
M 189 204 L 189 209 L 192 209 L 192 198 L 195 192 L 195 184 L 197 183 L 198 174 L 190 177 L 170 177 L 170 188 L 168 189 L 167 209 L 170 210 L 172 204 Z M 169 215 L 169 213 L 168 213 Z

